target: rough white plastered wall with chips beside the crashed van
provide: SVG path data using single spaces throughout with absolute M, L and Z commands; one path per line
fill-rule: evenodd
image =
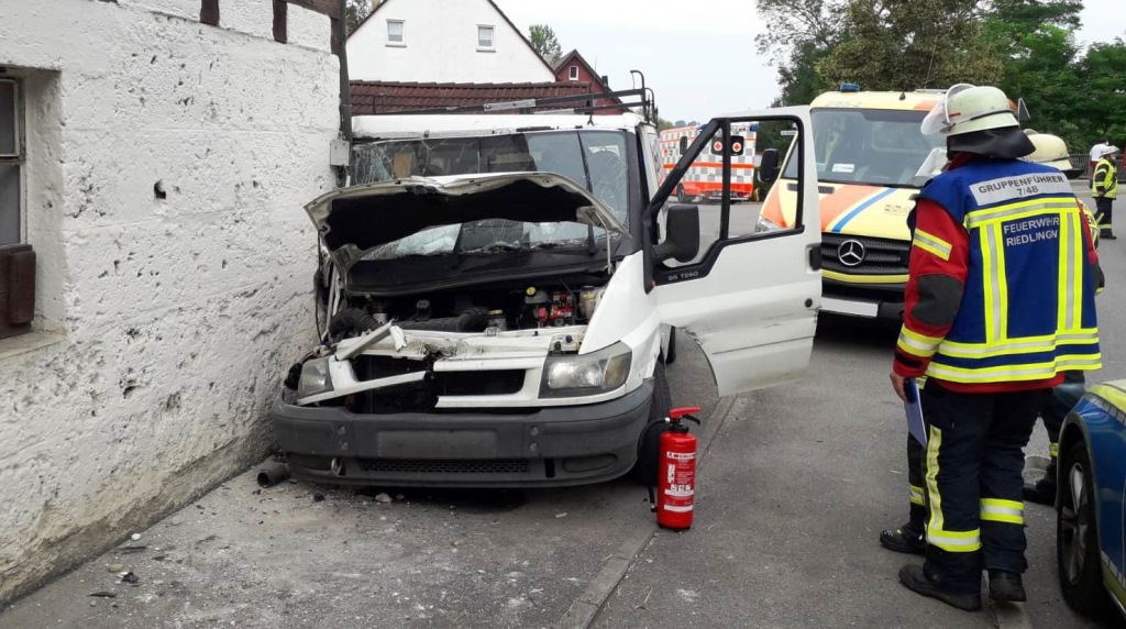
M 38 253 L 38 332 L 0 341 L 0 602 L 261 457 L 313 338 L 330 23 L 291 6 L 278 44 L 269 0 L 221 6 L 0 0 Z

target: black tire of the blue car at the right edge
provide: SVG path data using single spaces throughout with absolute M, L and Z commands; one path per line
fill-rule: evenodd
M 1073 610 L 1092 618 L 1109 618 L 1114 610 L 1110 594 L 1102 585 L 1094 482 L 1084 442 L 1074 443 L 1064 452 L 1060 471 L 1060 507 L 1056 510 L 1060 588 Z

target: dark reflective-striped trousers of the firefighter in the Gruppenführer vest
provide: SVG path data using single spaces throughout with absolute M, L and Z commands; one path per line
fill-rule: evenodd
M 939 587 L 981 592 L 982 568 L 1024 573 L 1024 448 L 1048 389 L 920 392 L 927 443 L 927 560 Z

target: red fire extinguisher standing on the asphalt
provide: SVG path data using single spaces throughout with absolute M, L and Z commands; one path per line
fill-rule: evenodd
M 682 530 L 692 525 L 696 494 L 696 437 L 681 420 L 700 421 L 692 416 L 699 406 L 669 411 L 669 430 L 661 434 L 656 475 L 656 523 L 665 529 Z

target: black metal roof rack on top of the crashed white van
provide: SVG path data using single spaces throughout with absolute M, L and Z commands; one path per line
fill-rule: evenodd
M 598 100 L 617 98 L 620 104 L 596 105 Z M 635 100 L 627 100 L 627 99 Z M 568 104 L 583 104 L 578 107 L 560 107 Z M 373 114 L 374 116 L 423 116 L 435 114 L 497 114 L 508 111 L 510 114 L 579 114 L 593 115 L 596 111 L 619 109 L 623 113 L 637 109 L 645 122 L 656 123 L 656 104 L 653 100 L 653 90 L 638 88 L 633 90 L 620 90 L 600 93 L 582 93 L 571 96 L 554 96 L 548 98 L 528 98 L 524 100 L 510 100 L 502 102 L 486 102 L 483 105 L 459 105 L 450 107 L 432 107 L 430 109 L 410 109 L 404 111 L 384 111 Z

